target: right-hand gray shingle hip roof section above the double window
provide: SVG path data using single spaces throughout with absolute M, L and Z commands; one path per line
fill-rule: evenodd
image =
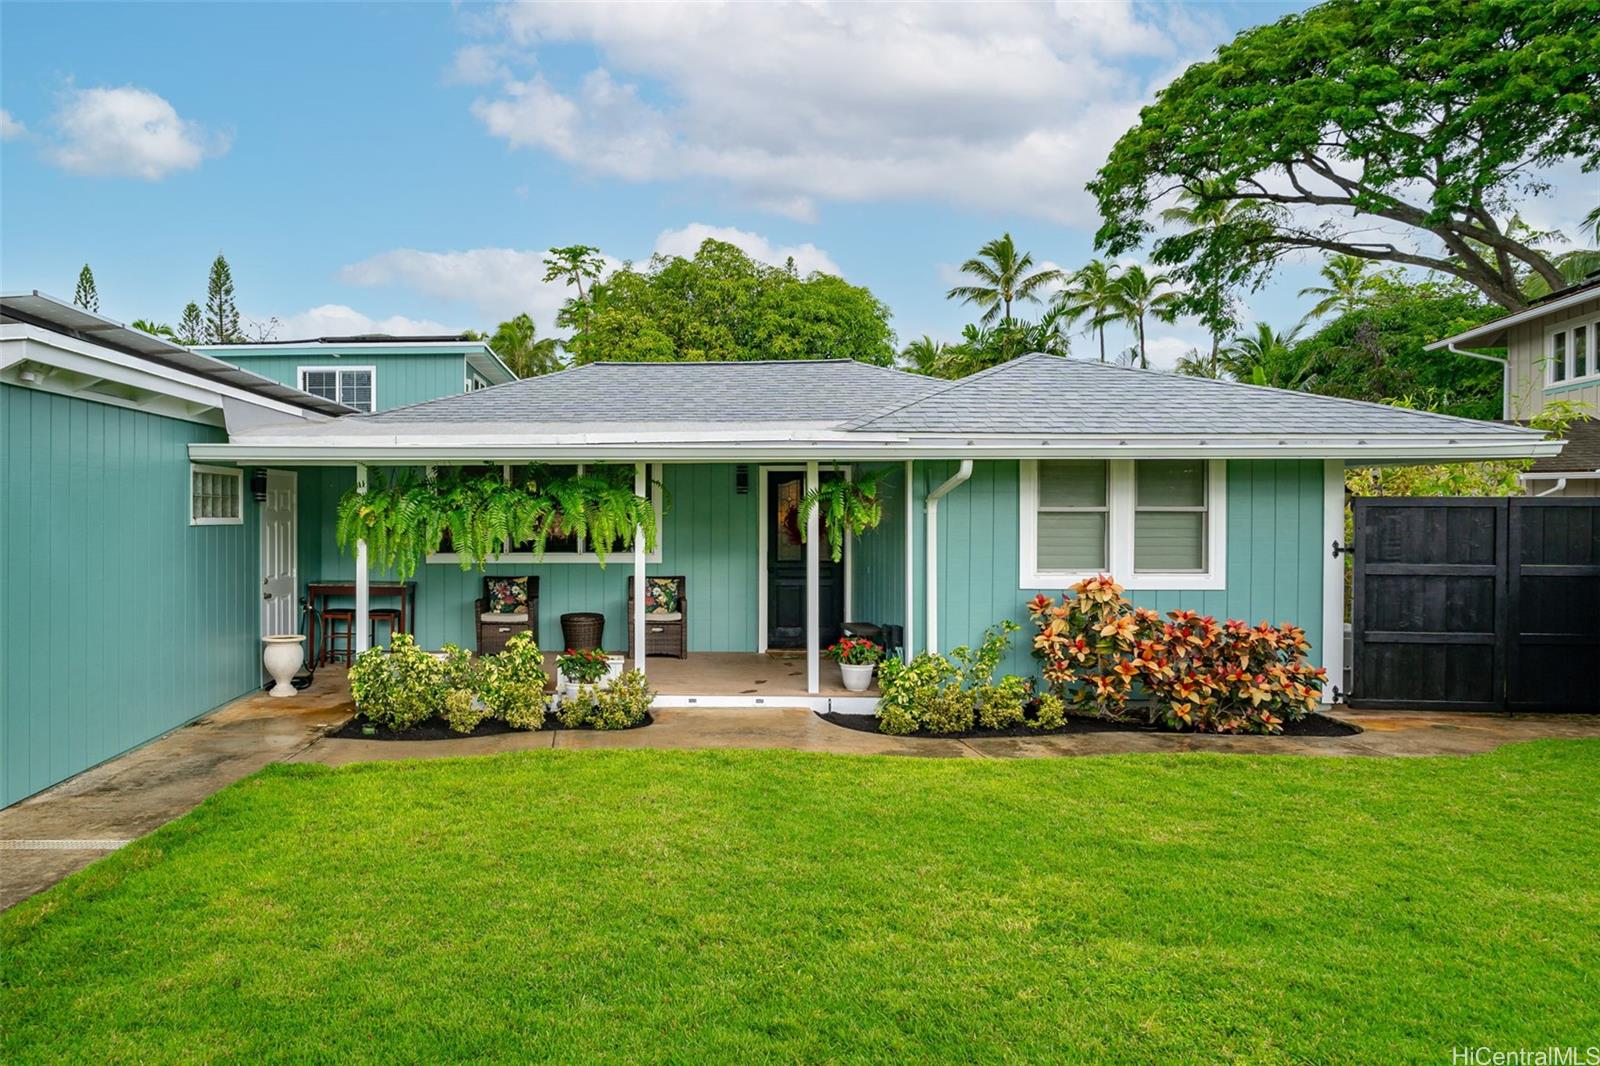
M 899 434 L 1507 434 L 1515 426 L 1056 355 L 1024 355 L 845 429 Z

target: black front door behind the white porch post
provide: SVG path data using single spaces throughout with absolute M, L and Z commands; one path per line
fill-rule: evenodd
M 838 474 L 824 474 L 824 479 Z M 766 475 L 766 647 L 805 647 L 805 541 L 800 539 L 800 498 L 805 474 L 771 471 Z M 845 565 L 834 562 L 822 530 L 818 623 L 822 647 L 838 640 L 845 621 Z

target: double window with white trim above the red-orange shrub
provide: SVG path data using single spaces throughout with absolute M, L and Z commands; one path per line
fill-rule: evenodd
M 1026 459 L 1019 504 L 1018 587 L 1224 587 L 1222 459 Z

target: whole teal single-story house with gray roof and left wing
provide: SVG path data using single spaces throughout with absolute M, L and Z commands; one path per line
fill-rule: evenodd
M 563 615 L 598 616 L 658 706 L 870 709 L 821 655 L 846 626 L 949 651 L 1096 573 L 1160 610 L 1296 623 L 1338 677 L 1346 466 L 1560 448 L 1050 355 L 960 381 L 848 360 L 514 381 L 461 341 L 190 352 L 37 295 L 0 312 L 3 804 L 256 690 L 262 637 L 310 637 L 325 605 L 350 611 L 357 650 L 387 639 L 374 611 L 397 602 L 421 645 L 470 648 L 486 576 L 534 579 L 526 624 L 547 651 Z M 485 575 L 440 544 L 402 584 L 334 539 L 341 496 L 398 471 L 602 464 L 651 499 L 653 551 L 602 565 L 576 539 L 506 544 Z M 800 499 L 867 472 L 883 519 L 835 562 Z M 678 579 L 670 613 L 630 595 L 651 578 Z M 1026 640 L 1003 669 L 1035 674 Z

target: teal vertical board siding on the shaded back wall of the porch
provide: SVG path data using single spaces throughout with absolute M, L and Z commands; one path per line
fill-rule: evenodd
M 734 464 L 666 464 L 662 487 L 661 562 L 651 575 L 683 575 L 688 595 L 690 651 L 755 651 L 757 607 L 757 493 L 734 491 Z M 301 471 L 301 584 L 314 579 L 350 579 L 355 560 L 334 539 L 339 498 L 355 483 L 352 467 Z M 754 485 L 754 467 L 752 467 Z M 422 563 L 414 581 L 418 642 L 426 648 L 477 639 L 472 603 L 483 591 L 483 575 L 538 575 L 539 643 L 558 648 L 562 615 L 602 611 L 605 645 L 627 648 L 627 579 L 632 555 L 624 552 L 597 563 L 491 562 L 486 570 L 459 563 Z M 373 573 L 378 579 L 382 575 Z

